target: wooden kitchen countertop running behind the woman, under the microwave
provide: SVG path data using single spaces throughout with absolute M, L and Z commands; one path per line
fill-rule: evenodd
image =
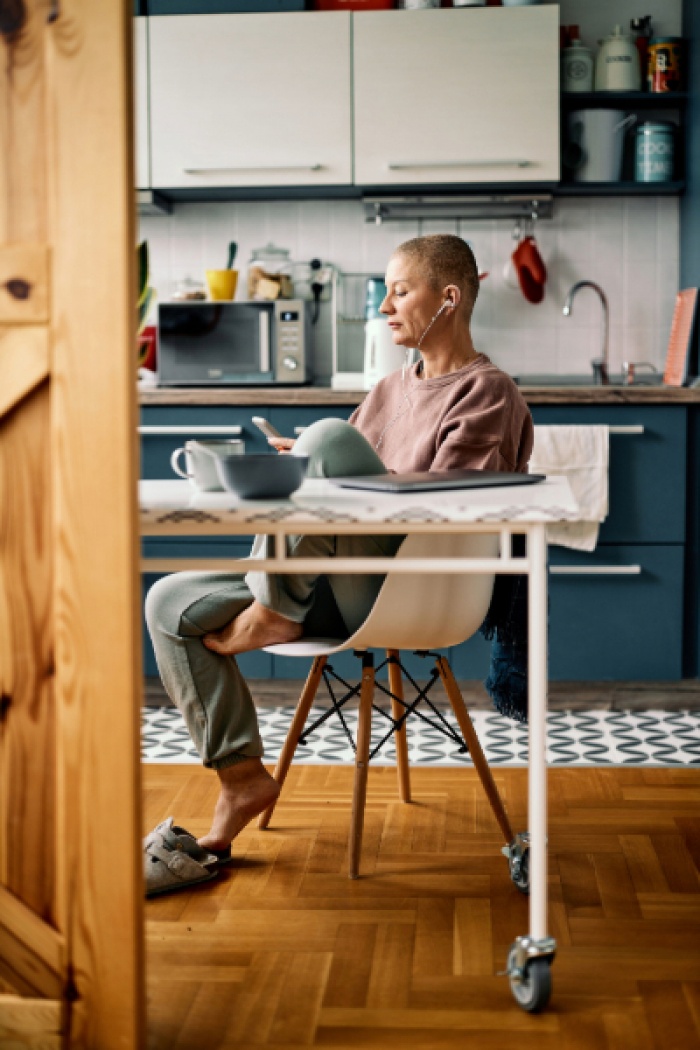
M 678 386 L 526 386 L 528 404 L 700 404 L 700 388 Z M 143 405 L 331 405 L 360 404 L 366 391 L 335 391 L 330 386 L 147 387 L 139 391 Z

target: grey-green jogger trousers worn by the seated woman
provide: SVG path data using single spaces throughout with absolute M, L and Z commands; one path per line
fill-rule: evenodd
M 295 453 L 310 457 L 307 477 L 383 474 L 386 467 L 362 435 L 339 419 L 307 427 Z M 305 536 L 287 540 L 290 556 L 391 556 L 400 536 Z M 270 538 L 256 537 L 251 560 L 268 554 Z M 261 757 L 255 706 L 235 657 L 201 640 L 248 608 L 254 598 L 306 634 L 347 637 L 364 622 L 384 578 L 379 574 L 270 575 L 251 570 L 176 572 L 157 581 L 146 598 L 146 623 L 163 684 L 182 711 L 205 765 L 220 770 Z M 330 629 L 331 625 L 333 630 Z

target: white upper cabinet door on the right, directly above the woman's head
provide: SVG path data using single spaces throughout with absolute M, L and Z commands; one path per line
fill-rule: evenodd
M 554 4 L 356 15 L 356 183 L 558 181 L 558 16 Z

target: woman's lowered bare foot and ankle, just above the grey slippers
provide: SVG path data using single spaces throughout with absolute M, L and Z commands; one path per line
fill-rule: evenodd
M 211 828 L 198 839 L 200 846 L 226 849 L 253 817 L 277 801 L 279 784 L 259 758 L 217 771 L 221 791 L 214 808 Z

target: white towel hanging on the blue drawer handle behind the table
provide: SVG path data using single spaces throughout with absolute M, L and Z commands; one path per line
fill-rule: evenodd
M 530 471 L 564 475 L 580 509 L 579 521 L 547 526 L 549 543 L 595 550 L 600 522 L 608 517 L 609 447 L 607 426 L 535 426 Z

